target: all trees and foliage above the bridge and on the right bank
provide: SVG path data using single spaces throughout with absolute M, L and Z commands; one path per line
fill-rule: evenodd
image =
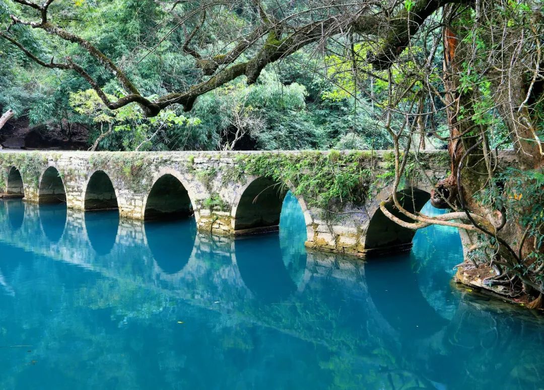
M 542 303 L 541 1 L 0 4 L 3 111 L 84 123 L 94 149 L 392 148 L 406 218 L 382 211 L 459 227 L 487 283 Z M 452 212 L 405 210 L 417 152 L 446 144 L 431 200 Z M 504 148 L 515 167 L 498 168 Z

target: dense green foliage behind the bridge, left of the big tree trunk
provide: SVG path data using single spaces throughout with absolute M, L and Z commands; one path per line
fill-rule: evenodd
M 58 35 L 43 29 L 16 24 L 7 36 L 27 47 L 37 59 L 47 62 L 47 68 L 33 66 L 32 59 L 14 51 L 13 42 L 0 41 L 3 55 L 14 64 L 11 69 L 3 69 L 6 74 L 0 80 L 0 105 L 4 111 L 13 109 L 16 116 L 28 115 L 32 124 L 84 123 L 91 129 L 91 144 L 99 134 L 114 129 L 100 139 L 98 149 L 380 149 L 392 146 L 379 103 L 372 102 L 370 96 L 357 96 L 353 81 L 344 75 L 349 72 L 351 63 L 344 39 L 327 42 L 329 49 L 323 47 L 324 42 L 314 40 L 312 45 L 302 46 L 299 51 L 290 49 L 294 54 L 283 55 L 282 61 L 267 59 L 265 70 L 252 85 L 248 85 L 245 75 L 229 74 L 231 64 L 226 62 L 215 72 L 226 74 L 222 76 L 225 81 L 217 83 L 215 88 L 216 83 L 209 82 L 213 79 L 209 75 L 212 66 L 202 68 L 205 56 L 221 56 L 243 42 L 247 47 L 231 62 L 247 62 L 270 34 L 261 26 L 262 20 L 251 2 L 181 2 L 175 7 L 174 4 L 121 0 L 52 2 L 47 9 L 48 23 L 70 34 L 77 32 L 96 51 L 107 55 L 125 76 L 116 77 L 116 71 L 104 67 L 100 56 L 92 54 L 95 51 L 66 44 Z M 22 5 L 3 4 L 0 17 L 5 26 L 13 22 L 10 15 L 24 21 L 34 21 L 39 15 L 35 8 Z M 274 13 L 277 17 L 280 13 L 286 14 L 285 17 L 292 15 L 293 20 L 286 23 L 296 26 L 310 23 L 314 17 L 343 12 L 318 7 L 314 11 L 318 14 L 310 15 L 307 11 L 311 6 L 305 2 L 289 2 L 285 10 L 278 8 Z M 277 8 L 273 2 L 263 7 Z M 323 15 L 319 15 L 320 12 Z M 205 23 L 200 26 L 203 18 Z M 255 34 L 255 29 L 259 33 L 255 42 L 245 42 L 244 34 Z M 51 65 L 51 59 L 63 62 L 65 58 L 70 58 L 73 64 L 59 64 L 60 68 Z M 119 100 L 131 92 L 131 87 L 127 89 L 126 83 L 123 84 L 125 78 L 139 96 L 149 101 L 180 91 L 198 90 L 199 85 L 207 85 L 210 91 L 190 106 L 181 104 L 182 100 L 176 104 L 164 103 L 165 109 L 171 111 L 167 117 L 172 118 L 173 113 L 181 119 L 177 123 L 165 119 L 164 110 L 158 120 L 150 121 L 146 118 L 150 113 L 145 106 L 129 107 L 129 111 L 133 110 L 131 115 L 116 114 L 114 119 L 113 112 L 101 98 L 88 91 L 91 85 L 85 77 L 76 71 L 60 71 L 76 65 L 100 85 L 110 102 L 119 106 L 124 104 L 118 103 Z M 383 85 L 374 86 L 376 83 L 371 77 L 363 77 L 358 83 L 364 84 L 367 90 L 383 90 Z M 346 87 L 348 91 L 344 91 Z M 85 91 L 82 92 L 85 97 L 92 97 L 96 104 L 78 106 L 81 99 L 77 96 L 71 101 L 70 93 L 80 91 Z M 193 95 L 197 93 L 201 91 Z M 192 109 L 184 112 L 189 108 Z M 127 129 L 130 131 L 124 131 Z M 443 144 L 438 140 L 435 143 Z

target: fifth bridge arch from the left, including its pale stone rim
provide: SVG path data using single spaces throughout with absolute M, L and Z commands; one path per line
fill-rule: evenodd
M 294 193 L 291 186 L 268 177 L 252 177 L 234 198 L 231 211 L 232 229 L 236 235 L 254 234 L 279 230 L 283 200 L 288 191 Z M 313 219 L 304 199 L 298 200 L 304 221 L 307 237 L 313 237 Z

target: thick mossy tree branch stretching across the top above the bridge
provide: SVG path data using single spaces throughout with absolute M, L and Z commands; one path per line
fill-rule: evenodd
M 161 109 L 172 104 L 182 104 L 184 109 L 189 111 L 193 107 L 197 97 L 240 76 L 246 76 L 250 84 L 255 83 L 263 68 L 271 62 L 285 58 L 311 43 L 324 41 L 328 36 L 343 33 L 349 29 L 353 29 L 353 31 L 358 34 L 377 35 L 379 37 L 385 36 L 382 46 L 376 53 L 369 56 L 369 61 L 376 68 L 386 68 L 397 59 L 410 41 L 411 36 L 417 32 L 426 17 L 444 4 L 461 3 L 464 0 L 418 0 L 413 4 L 413 7 L 410 10 L 399 7 L 400 10 L 394 12 L 394 16 L 392 17 L 385 17 L 384 15 L 386 12 L 369 10 L 367 5 L 361 5 L 359 11 L 355 11 L 351 15 L 334 15 L 325 18 L 322 21 L 308 23 L 299 28 L 289 27 L 293 32 L 285 37 L 282 36 L 284 30 L 282 22 L 271 21 L 268 15 L 265 14 L 264 9 L 259 2 L 256 2 L 263 23 L 256 27 L 248 37 L 240 39 L 237 45 L 225 55 L 217 55 L 211 59 L 202 59 L 196 51 L 189 48 L 190 40 L 193 39 L 200 29 L 200 26 L 204 23 L 202 20 L 201 24 L 188 36 L 182 49 L 184 52 L 187 52 L 196 58 L 197 66 L 202 69 L 205 75 L 212 77 L 200 84 L 191 86 L 188 91 L 170 93 L 169 95 L 159 97 L 156 102 L 151 102 L 142 97 L 137 87 L 129 80 L 126 74 L 89 41 L 47 22 L 47 8 L 53 0 L 48 0 L 44 5 L 38 5 L 27 0 L 15 1 L 39 10 L 41 21 L 24 21 L 12 15 L 11 19 L 14 24 L 23 24 L 33 28 L 39 28 L 47 33 L 60 37 L 65 41 L 77 43 L 77 45 L 81 46 L 93 58 L 100 62 L 104 68 L 112 72 L 119 83 L 129 92 L 129 95 L 116 102 L 110 102 L 106 95 L 100 91 L 100 86 L 81 66 L 75 64 L 75 62 L 67 60 L 66 64 L 47 64 L 46 62 L 39 60 L 27 49 L 24 49 L 22 45 L 16 43 L 16 41 L 7 34 L 2 33 L 0 36 L 8 39 L 11 43 L 14 43 L 14 45 L 20 48 L 29 58 L 33 59 L 41 66 L 74 70 L 78 72 L 86 81 L 88 81 L 92 88 L 95 89 L 98 96 L 100 96 L 108 108 L 115 110 L 135 102 L 140 104 L 146 116 L 156 116 Z M 255 45 L 261 39 L 264 39 L 261 48 L 257 50 L 250 60 L 239 64 L 235 63 L 240 55 L 248 51 L 251 46 Z

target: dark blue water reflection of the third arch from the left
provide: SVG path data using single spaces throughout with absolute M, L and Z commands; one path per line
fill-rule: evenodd
M 85 230 L 92 249 L 98 255 L 112 251 L 119 230 L 119 212 L 86 212 Z

